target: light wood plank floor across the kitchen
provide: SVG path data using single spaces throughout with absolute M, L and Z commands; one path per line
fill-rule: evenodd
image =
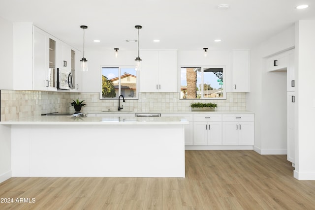
M 188 150 L 186 178 L 11 178 L 0 198 L 35 198 L 0 210 L 314 210 L 315 181 L 294 179 L 286 155 Z

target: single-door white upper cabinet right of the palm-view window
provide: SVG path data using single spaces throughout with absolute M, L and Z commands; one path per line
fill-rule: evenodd
M 250 51 L 233 50 L 232 52 L 232 91 L 250 91 Z

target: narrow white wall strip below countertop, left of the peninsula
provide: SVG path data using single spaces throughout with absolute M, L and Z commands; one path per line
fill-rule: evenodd
M 11 126 L 0 125 L 0 182 L 11 177 Z

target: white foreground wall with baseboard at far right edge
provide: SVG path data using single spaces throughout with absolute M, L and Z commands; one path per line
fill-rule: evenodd
M 315 20 L 296 24 L 295 171 L 298 180 L 315 180 Z

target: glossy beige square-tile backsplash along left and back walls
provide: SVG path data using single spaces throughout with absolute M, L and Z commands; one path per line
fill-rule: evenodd
M 75 93 L 29 90 L 1 90 L 1 121 L 39 116 L 51 112 L 74 112 L 72 99 L 85 100 L 82 112 L 117 111 L 118 100 L 99 100 L 99 93 Z M 137 100 L 126 100 L 124 111 L 189 112 L 190 103 L 212 102 L 218 111 L 245 111 L 246 93 L 228 92 L 226 100 L 180 100 L 178 92 L 140 92 Z

